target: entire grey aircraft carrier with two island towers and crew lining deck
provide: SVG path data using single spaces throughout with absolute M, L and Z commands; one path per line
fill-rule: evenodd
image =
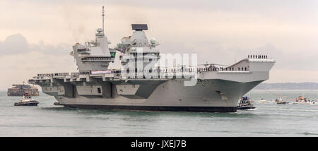
M 102 23 L 95 40 L 73 46 L 78 72 L 40 73 L 28 83 L 72 108 L 235 112 L 240 97 L 269 79 L 275 64 L 266 55 L 248 55 L 231 66 L 200 67 L 196 58 L 192 64 L 158 65 L 171 57 L 160 54 L 155 39 L 148 40 L 148 25 L 132 24 L 132 35 L 110 48 Z M 116 55 L 122 68 L 110 69 Z

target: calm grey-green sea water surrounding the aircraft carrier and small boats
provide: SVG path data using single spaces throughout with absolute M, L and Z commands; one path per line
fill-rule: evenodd
M 290 104 L 271 102 L 273 92 Z M 300 93 L 318 99 L 318 91 L 252 90 L 256 109 L 194 113 L 68 109 L 43 93 L 37 107 L 14 107 L 21 97 L 1 91 L 0 136 L 318 136 L 318 104 L 293 104 Z

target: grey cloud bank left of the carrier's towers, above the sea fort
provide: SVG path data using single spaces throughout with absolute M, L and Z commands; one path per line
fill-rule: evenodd
M 0 42 L 0 90 L 32 78 L 37 73 L 76 71 L 71 47 L 66 44 L 28 44 L 23 35 L 10 35 Z

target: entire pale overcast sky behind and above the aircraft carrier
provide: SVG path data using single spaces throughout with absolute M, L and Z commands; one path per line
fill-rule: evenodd
M 318 82 L 318 1 L 0 1 L 0 90 L 37 73 L 74 72 L 71 46 L 105 28 L 114 47 L 147 23 L 163 53 L 197 53 L 199 64 L 248 54 L 276 60 L 266 83 Z

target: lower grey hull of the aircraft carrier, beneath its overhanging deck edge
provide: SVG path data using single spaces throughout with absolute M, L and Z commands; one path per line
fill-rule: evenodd
M 184 80 L 167 80 L 158 85 L 147 99 L 131 99 L 122 95 L 54 96 L 65 107 L 90 109 L 129 109 L 151 111 L 236 111 L 237 101 L 263 80 L 239 83 L 230 80 L 198 80 L 194 86 L 184 86 Z

